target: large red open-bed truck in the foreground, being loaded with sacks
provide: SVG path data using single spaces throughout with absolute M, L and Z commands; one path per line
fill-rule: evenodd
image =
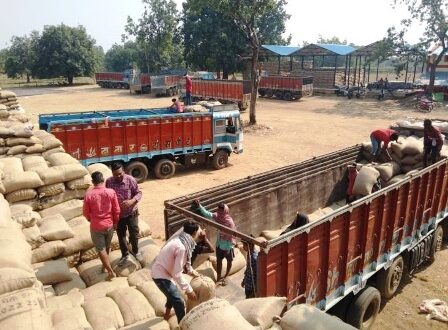
M 406 274 L 434 259 L 441 248 L 448 229 L 447 159 L 341 203 L 286 234 L 268 241 L 254 238 L 291 223 L 297 211 L 310 213 L 345 201 L 347 165 L 361 159 L 362 147 L 355 145 L 165 201 L 165 236 L 194 219 L 207 226 L 210 236 L 220 230 L 250 242 L 260 249 L 258 297 L 284 296 L 289 306 L 313 304 L 369 329 L 381 300 L 391 298 Z M 225 202 L 237 230 L 190 212 L 196 199 L 212 211 Z M 243 290 L 228 281 L 231 285 Z

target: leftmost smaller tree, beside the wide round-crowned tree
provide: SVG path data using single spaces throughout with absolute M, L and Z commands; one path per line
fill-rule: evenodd
M 34 31 L 30 36 L 12 37 L 11 47 L 6 52 L 5 72 L 10 78 L 26 76 L 29 83 L 36 63 L 36 45 L 39 38 Z

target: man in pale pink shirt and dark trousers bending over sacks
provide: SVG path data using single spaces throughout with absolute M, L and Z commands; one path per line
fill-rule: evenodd
M 173 307 L 178 322 L 185 316 L 185 303 L 174 282 L 182 291 L 186 292 L 188 299 L 196 299 L 196 294 L 191 285 L 183 278 L 182 272 L 185 268 L 188 274 L 197 276 L 191 267 L 191 255 L 200 233 L 201 229 L 194 221 L 184 223 L 183 231 L 165 244 L 152 265 L 151 275 L 154 283 L 167 299 L 165 320 L 169 319 Z

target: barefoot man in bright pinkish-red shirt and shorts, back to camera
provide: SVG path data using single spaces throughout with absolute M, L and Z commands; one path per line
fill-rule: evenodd
M 114 190 L 104 186 L 101 172 L 92 173 L 93 189 L 84 197 L 83 214 L 90 222 L 90 236 L 104 268 L 107 280 L 115 277 L 109 260 L 110 243 L 120 219 L 120 206 Z

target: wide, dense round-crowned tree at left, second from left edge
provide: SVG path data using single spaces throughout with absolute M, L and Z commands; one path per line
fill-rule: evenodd
M 37 43 L 35 72 L 39 78 L 91 76 L 96 65 L 95 40 L 82 26 L 45 26 Z

